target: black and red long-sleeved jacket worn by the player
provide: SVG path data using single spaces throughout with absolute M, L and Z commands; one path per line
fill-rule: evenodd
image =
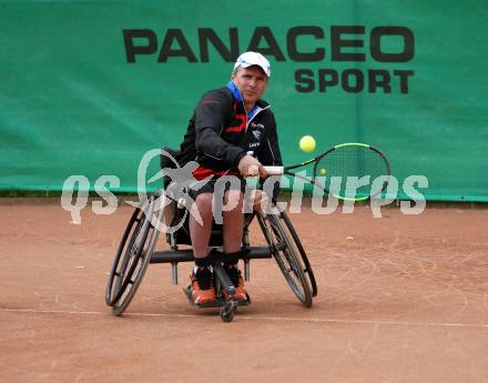
M 247 152 L 253 152 L 263 165 L 283 164 L 270 105 L 257 101 L 248 118 L 241 92 L 232 81 L 203 95 L 180 150 L 180 165 L 189 161 L 200 164 L 194 172 L 196 179 L 238 174 L 238 161 Z

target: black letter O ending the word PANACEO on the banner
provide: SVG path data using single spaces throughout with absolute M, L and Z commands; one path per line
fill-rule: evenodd
M 382 37 L 400 36 L 404 39 L 401 52 L 385 53 L 382 50 Z M 370 50 L 372 57 L 379 62 L 407 62 L 414 58 L 415 42 L 414 32 L 406 27 L 376 27 L 372 30 Z

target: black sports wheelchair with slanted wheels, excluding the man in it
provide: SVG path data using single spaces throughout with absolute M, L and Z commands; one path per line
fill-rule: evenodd
M 164 150 L 177 158 L 176 151 L 167 148 Z M 161 158 L 162 169 L 174 168 L 166 158 Z M 177 167 L 176 162 L 175 164 Z M 131 303 L 150 263 L 171 263 L 172 282 L 177 284 L 177 264 L 194 262 L 192 249 L 180 248 L 191 245 L 189 210 L 184 200 L 173 195 L 167 185 L 171 188 L 167 177 L 164 177 L 163 189 L 148 195 L 148 199 L 135 208 L 122 235 L 105 294 L 106 304 L 112 308 L 115 316 L 121 315 Z M 253 221 L 258 222 L 267 246 L 250 244 L 248 228 Z M 160 232 L 164 233 L 170 249 L 155 250 Z M 214 272 L 216 301 L 197 308 L 220 308 L 221 319 L 231 322 L 237 306 L 248 305 L 251 298 L 247 295 L 243 301 L 234 299 L 234 285 L 223 268 L 222 244 L 222 225 L 214 223 L 210 240 L 212 251 L 209 256 Z M 317 284 L 311 263 L 287 214 L 279 212 L 273 203 L 266 212 L 245 214 L 242 251 L 238 258 L 244 262 L 245 281 L 250 281 L 251 260 L 274 258 L 296 298 L 304 306 L 312 306 L 312 299 L 317 295 Z M 191 302 L 191 286 L 183 290 Z

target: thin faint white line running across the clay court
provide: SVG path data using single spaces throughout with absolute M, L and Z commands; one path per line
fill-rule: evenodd
M 33 310 L 33 309 L 0 309 L 0 312 L 28 313 L 28 314 L 62 314 L 62 315 L 104 315 L 109 312 L 101 311 L 60 311 L 60 310 Z M 124 316 L 163 316 L 163 318 L 201 318 L 199 314 L 163 314 L 163 313 L 124 313 Z M 482 323 L 443 323 L 443 322 L 405 322 L 405 321 L 368 321 L 368 320 L 343 320 L 319 318 L 285 318 L 285 316 L 246 316 L 237 314 L 238 320 L 247 321 L 274 321 L 274 322 L 307 322 L 307 323 L 339 323 L 339 324 L 384 324 L 405 326 L 444 326 L 444 327 L 488 327 Z

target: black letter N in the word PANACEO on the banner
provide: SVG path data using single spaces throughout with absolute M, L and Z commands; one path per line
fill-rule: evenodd
M 226 62 L 235 61 L 238 56 L 238 34 L 237 28 L 228 28 L 228 40 L 231 47 L 227 49 L 212 28 L 199 28 L 200 60 L 209 62 L 209 42 Z

